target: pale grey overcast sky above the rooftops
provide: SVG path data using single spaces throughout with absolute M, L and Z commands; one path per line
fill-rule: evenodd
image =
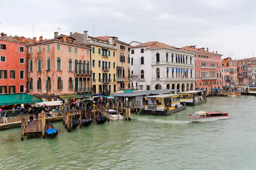
M 175 47 L 197 45 L 223 57 L 256 56 L 253 0 L 6 0 L 0 32 L 53 38 L 88 31 L 90 36 L 159 41 Z M 38 38 L 39 39 L 39 38 Z M 240 57 L 239 57 L 240 56 Z

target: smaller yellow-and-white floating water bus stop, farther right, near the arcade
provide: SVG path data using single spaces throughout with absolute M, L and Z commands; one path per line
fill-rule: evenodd
M 207 100 L 205 91 L 183 91 L 178 94 L 180 94 L 180 102 L 186 105 L 195 106 Z

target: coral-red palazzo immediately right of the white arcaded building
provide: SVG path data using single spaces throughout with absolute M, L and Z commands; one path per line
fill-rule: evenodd
M 210 91 L 221 88 L 221 54 L 210 52 L 196 45 L 181 48 L 195 53 L 195 89 Z

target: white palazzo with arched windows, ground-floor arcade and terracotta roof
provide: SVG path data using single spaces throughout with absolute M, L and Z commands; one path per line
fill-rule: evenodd
M 131 87 L 139 90 L 195 90 L 194 53 L 161 42 L 131 47 Z

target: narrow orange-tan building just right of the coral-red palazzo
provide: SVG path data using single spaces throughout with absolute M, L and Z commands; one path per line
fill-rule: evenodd
M 236 60 L 230 57 L 221 60 L 221 80 L 223 88 L 234 88 L 238 85 Z

